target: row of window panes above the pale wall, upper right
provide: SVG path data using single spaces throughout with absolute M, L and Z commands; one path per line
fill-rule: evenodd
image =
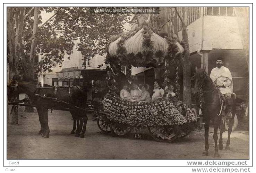
M 234 16 L 234 7 L 206 7 L 206 15 L 210 16 Z

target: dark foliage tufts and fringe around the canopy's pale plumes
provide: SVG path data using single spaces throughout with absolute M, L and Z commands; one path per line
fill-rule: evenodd
M 127 53 L 125 42 L 128 38 L 133 37 L 141 29 L 142 40 L 141 40 L 141 51 Z M 179 65 L 182 62 L 182 53 L 179 50 L 177 44 L 179 44 L 178 39 L 174 36 L 168 36 L 167 33 L 162 33 L 161 38 L 165 38 L 168 43 L 167 50 L 156 50 L 154 51 L 154 42 L 151 37 L 154 30 L 147 23 L 143 23 L 139 27 L 134 28 L 130 32 L 122 33 L 120 36 L 114 36 L 111 42 L 115 41 L 113 38 L 122 39 L 117 44 L 116 55 L 110 55 L 108 51 L 108 46 L 106 47 L 106 59 L 105 63 L 110 63 L 111 61 L 117 61 L 122 65 L 134 66 L 134 67 L 159 67 L 163 65 L 164 60 L 167 60 L 169 64 Z M 156 34 L 156 33 L 154 33 Z M 134 46 L 134 45 L 129 45 Z M 161 47 L 160 47 L 161 48 Z

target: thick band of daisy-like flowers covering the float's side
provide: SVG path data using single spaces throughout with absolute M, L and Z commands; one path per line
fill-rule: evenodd
M 174 104 L 171 99 L 130 102 L 113 95 L 106 95 L 102 102 L 110 121 L 134 127 L 185 125 L 194 122 L 194 114 L 190 114 L 191 110 L 181 103 Z M 176 106 L 182 108 L 181 112 Z

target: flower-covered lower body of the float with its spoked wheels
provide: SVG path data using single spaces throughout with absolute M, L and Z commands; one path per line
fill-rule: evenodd
M 128 135 L 132 129 L 147 130 L 158 142 L 174 142 L 190 134 L 196 122 L 193 112 L 177 98 L 145 102 L 107 94 L 97 112 L 97 125 L 104 133 Z

